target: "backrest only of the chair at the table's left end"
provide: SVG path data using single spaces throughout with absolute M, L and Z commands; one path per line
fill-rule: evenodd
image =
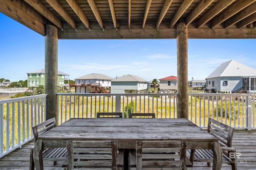
M 44 121 L 43 123 L 40 123 L 34 127 L 32 127 L 33 134 L 34 134 L 34 143 L 36 143 L 38 136 L 41 135 L 42 133 L 56 127 L 56 119 L 55 117 L 52 117 L 51 119 L 48 119 Z

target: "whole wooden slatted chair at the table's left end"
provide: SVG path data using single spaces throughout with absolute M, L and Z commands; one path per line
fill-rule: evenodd
M 46 131 L 56 127 L 55 117 L 40 123 L 32 127 L 34 134 L 34 143 L 36 143 L 38 136 Z M 34 160 L 33 160 L 33 150 L 30 150 L 30 170 L 34 170 Z M 54 165 L 56 165 L 57 161 L 66 160 L 68 156 L 68 152 L 66 148 L 48 148 L 43 150 L 43 159 L 45 161 L 54 161 Z

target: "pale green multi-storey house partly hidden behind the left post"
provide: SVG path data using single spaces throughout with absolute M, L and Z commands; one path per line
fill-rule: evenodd
M 38 87 L 40 85 L 45 85 L 44 69 L 27 72 L 26 74 L 28 74 L 28 87 Z M 69 74 L 58 71 L 58 87 L 68 87 L 68 84 Z

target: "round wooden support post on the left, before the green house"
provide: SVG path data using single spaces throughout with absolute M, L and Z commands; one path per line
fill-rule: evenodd
M 46 120 L 57 119 L 58 93 L 58 29 L 53 25 L 46 25 L 45 36 L 45 94 Z

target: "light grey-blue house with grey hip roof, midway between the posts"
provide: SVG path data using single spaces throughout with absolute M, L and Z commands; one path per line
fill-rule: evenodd
M 111 81 L 111 93 L 145 93 L 148 81 L 134 75 L 126 75 Z

